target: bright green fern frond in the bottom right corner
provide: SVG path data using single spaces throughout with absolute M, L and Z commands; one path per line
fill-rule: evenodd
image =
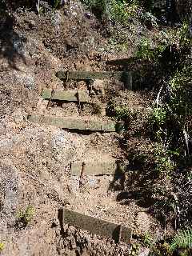
M 191 249 L 192 248 L 192 230 L 181 230 L 174 236 L 170 243 L 170 249 Z

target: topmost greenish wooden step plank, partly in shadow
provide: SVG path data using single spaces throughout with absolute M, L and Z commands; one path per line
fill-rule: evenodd
M 129 77 L 131 73 L 129 71 L 106 71 L 106 72 L 92 72 L 92 71 L 65 71 L 59 70 L 57 77 L 63 80 L 90 80 L 90 79 L 104 79 L 104 78 L 116 78 L 125 81 L 125 78 Z

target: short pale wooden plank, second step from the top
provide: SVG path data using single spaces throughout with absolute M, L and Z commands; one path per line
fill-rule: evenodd
M 51 98 L 50 89 L 45 89 L 42 91 L 42 98 L 50 99 Z M 85 90 L 54 90 L 52 95 L 53 100 L 66 101 L 66 102 L 78 102 L 78 97 L 80 102 L 90 102 L 90 96 L 86 93 Z

